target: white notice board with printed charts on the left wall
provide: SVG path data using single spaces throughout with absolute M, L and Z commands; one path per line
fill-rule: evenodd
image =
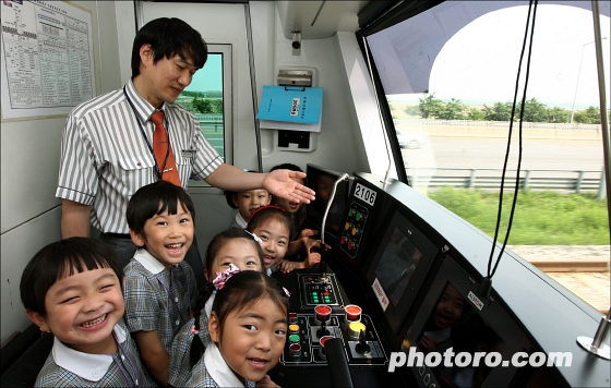
M 93 98 L 91 12 L 64 1 L 0 1 L 2 118 L 67 114 Z

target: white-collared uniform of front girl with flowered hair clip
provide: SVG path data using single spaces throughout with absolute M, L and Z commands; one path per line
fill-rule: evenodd
M 247 387 L 254 388 L 254 381 L 245 380 L 243 384 L 236 377 L 233 371 L 223 359 L 216 343 L 212 342 L 204 352 L 204 356 L 193 366 L 191 378 L 187 387 Z

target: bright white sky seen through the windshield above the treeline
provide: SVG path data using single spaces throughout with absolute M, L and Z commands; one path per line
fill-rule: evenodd
M 430 93 L 466 104 L 511 101 L 515 90 L 528 7 L 490 12 L 456 33 L 438 54 Z M 519 34 L 515 32 L 519 31 Z M 609 94 L 609 17 L 601 15 L 607 101 Z M 519 38 L 516 38 L 519 36 Z M 538 7 L 527 98 L 575 109 L 599 106 L 592 15 L 574 7 Z M 474 45 L 474 43 L 476 43 Z M 583 62 L 582 64 L 582 51 Z M 525 56 L 526 58 L 526 56 Z M 526 61 L 523 64 L 525 78 Z M 579 69 L 580 68 L 580 69 Z M 578 80 L 577 80 L 578 78 Z M 578 82 L 577 82 L 578 81 Z M 575 90 L 577 88 L 577 93 Z M 391 101 L 418 101 L 422 94 L 388 96 Z M 522 96 L 522 88 L 519 95 Z

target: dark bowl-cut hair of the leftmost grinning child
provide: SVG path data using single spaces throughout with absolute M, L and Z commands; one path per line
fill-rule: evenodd
M 21 301 L 26 310 L 47 316 L 45 298 L 58 281 L 86 270 L 110 268 L 123 281 L 123 267 L 110 246 L 89 238 L 70 238 L 38 251 L 21 276 Z

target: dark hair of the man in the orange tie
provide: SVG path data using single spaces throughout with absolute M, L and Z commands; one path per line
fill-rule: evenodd
M 196 69 L 202 69 L 208 59 L 208 48 L 202 35 L 177 17 L 159 17 L 146 23 L 134 38 L 132 48 L 132 77 L 140 74 L 140 48 L 151 45 L 153 63 L 179 54 L 190 58 Z

